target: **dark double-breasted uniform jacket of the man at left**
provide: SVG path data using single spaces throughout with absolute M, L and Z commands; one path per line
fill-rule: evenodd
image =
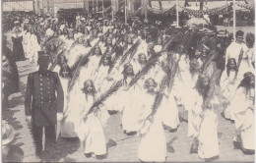
M 25 111 L 36 127 L 57 123 L 57 112 L 63 112 L 64 94 L 57 73 L 46 71 L 29 75 L 25 94 Z

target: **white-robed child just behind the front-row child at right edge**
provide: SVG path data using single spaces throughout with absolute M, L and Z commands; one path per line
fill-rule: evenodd
M 226 69 L 223 72 L 221 78 L 221 93 L 223 95 L 223 107 L 224 107 L 224 118 L 227 120 L 233 120 L 233 111 L 230 108 L 230 101 L 233 99 L 235 90 L 240 82 L 237 77 L 237 66 L 233 58 L 229 58 L 227 61 Z

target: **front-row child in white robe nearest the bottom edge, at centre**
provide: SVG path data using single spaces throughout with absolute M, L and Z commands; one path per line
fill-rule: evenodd
M 167 156 L 166 140 L 161 125 L 161 114 L 157 110 L 152 115 L 152 106 L 157 95 L 157 82 L 154 79 L 145 81 L 145 90 L 141 92 L 137 107 L 140 110 L 138 121 L 141 123 L 138 135 L 138 157 L 144 162 L 164 162 Z M 158 108 L 157 108 L 158 109 Z

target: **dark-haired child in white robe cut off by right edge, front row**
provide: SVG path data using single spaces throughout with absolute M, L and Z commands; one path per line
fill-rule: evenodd
M 240 82 L 233 101 L 230 105 L 233 109 L 235 147 L 239 147 L 245 154 L 255 152 L 255 76 L 248 72 Z

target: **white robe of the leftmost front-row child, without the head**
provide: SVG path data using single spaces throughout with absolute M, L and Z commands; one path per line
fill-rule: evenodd
M 88 113 L 90 107 L 93 105 L 95 98 L 93 95 L 84 94 L 81 100 L 82 110 Z M 81 114 L 82 115 L 82 114 Z M 81 140 L 84 153 L 95 153 L 96 155 L 103 155 L 106 153 L 106 140 L 103 127 L 106 124 L 108 113 L 104 107 L 100 107 L 96 113 L 89 114 L 86 118 L 82 116 L 77 117 L 80 119 L 80 124 L 76 131 Z

